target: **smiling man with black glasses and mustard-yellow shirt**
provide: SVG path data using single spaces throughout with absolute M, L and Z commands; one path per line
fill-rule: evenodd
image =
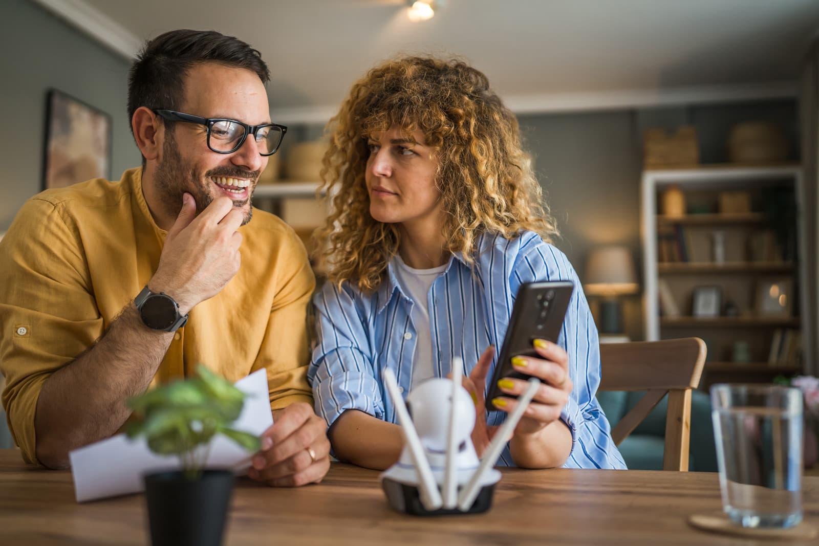
M 313 273 L 295 232 L 251 208 L 287 130 L 269 119 L 268 80 L 236 38 L 162 34 L 129 74 L 143 166 L 43 192 L 17 214 L 0 243 L 0 372 L 29 462 L 66 467 L 71 449 L 120 430 L 129 396 L 204 363 L 231 381 L 267 370 L 274 425 L 252 478 L 326 474 L 306 381 Z

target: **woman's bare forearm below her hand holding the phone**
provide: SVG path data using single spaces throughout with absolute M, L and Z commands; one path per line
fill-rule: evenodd
M 572 453 L 572 431 L 558 419 L 534 434 L 514 435 L 509 450 L 521 468 L 562 467 Z

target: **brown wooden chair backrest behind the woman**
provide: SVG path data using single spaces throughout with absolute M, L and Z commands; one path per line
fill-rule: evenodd
M 699 385 L 705 342 L 678 340 L 603 343 L 600 345 L 600 390 L 645 390 L 645 395 L 612 429 L 615 444 L 631 434 L 668 395 L 663 470 L 688 470 L 691 389 Z

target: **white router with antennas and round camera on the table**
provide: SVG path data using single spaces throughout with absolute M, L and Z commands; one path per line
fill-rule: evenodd
M 452 379 L 423 381 L 407 395 L 406 405 L 395 374 L 389 368 L 384 370 L 405 444 L 398 463 L 382 473 L 381 485 L 387 502 L 398 512 L 415 516 L 474 514 L 492 506 L 495 484 L 500 481 L 495 463 L 540 381 L 534 377 L 529 380 L 518 405 L 479 461 L 472 444 L 475 405 L 461 386 L 463 365 L 458 357 L 452 359 Z

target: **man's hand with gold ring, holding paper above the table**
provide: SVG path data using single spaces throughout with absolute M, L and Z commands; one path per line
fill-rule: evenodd
M 275 487 L 319 483 L 330 468 L 327 424 L 310 404 L 296 402 L 278 410 L 261 436 L 248 472 L 253 480 Z

